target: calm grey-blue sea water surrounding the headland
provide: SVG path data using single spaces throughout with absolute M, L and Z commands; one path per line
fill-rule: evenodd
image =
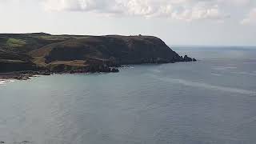
M 256 47 L 173 50 L 200 61 L 1 82 L 0 141 L 256 143 Z

